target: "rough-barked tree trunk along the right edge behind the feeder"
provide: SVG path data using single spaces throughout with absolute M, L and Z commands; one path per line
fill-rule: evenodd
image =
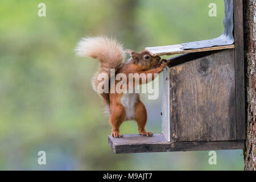
M 256 171 L 256 3 L 255 0 L 243 1 L 243 27 L 245 38 L 246 73 L 246 146 L 243 151 L 245 170 Z

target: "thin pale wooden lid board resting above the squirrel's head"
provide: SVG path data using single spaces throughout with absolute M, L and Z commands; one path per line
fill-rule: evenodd
M 208 48 L 199 48 L 199 49 L 188 49 L 183 50 L 181 44 L 171 45 L 171 46 L 159 46 L 159 47 L 146 47 L 145 50 L 150 52 L 152 56 L 162 56 L 162 55 L 175 55 L 177 53 L 189 53 L 189 52 L 204 52 L 204 51 L 214 51 L 220 49 L 232 49 L 234 45 L 228 46 L 214 46 Z

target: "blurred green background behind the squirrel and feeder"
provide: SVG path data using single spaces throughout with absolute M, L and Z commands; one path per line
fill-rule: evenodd
M 46 17 L 38 4 L 46 3 Z M 209 17 L 209 3 L 217 16 Z M 0 2 L 0 169 L 242 170 L 242 150 L 114 154 L 111 127 L 90 79 L 97 61 L 76 57 L 84 36 L 107 35 L 125 48 L 215 38 L 223 30 L 223 0 L 112 0 Z M 142 94 L 143 95 L 143 94 Z M 160 102 L 142 100 L 147 130 L 160 133 Z M 122 134 L 137 133 L 125 122 Z M 47 164 L 38 164 L 38 151 Z

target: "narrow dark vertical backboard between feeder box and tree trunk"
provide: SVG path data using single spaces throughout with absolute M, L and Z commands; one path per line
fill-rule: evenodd
M 245 73 L 243 53 L 243 3 L 234 0 L 237 140 L 245 139 Z

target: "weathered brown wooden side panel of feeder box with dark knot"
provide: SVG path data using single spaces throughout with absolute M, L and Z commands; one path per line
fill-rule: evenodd
M 236 140 L 234 49 L 170 68 L 171 141 Z

